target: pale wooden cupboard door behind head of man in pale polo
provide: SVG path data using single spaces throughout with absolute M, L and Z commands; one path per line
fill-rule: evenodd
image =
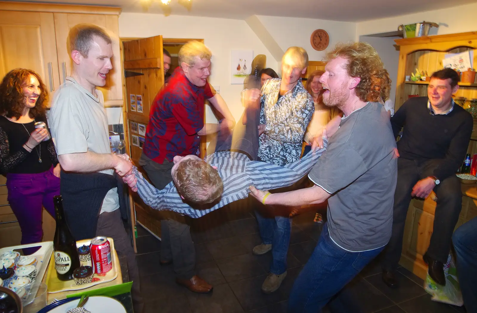
M 113 69 L 106 76 L 106 85 L 96 89 L 103 92 L 104 106 L 122 106 L 123 105 L 123 81 L 121 73 L 121 57 L 119 52 L 119 23 L 118 15 L 114 14 L 72 14 L 72 13 L 54 13 L 55 33 L 58 68 L 60 69 L 61 83 L 66 80 L 66 76 L 71 75 L 71 57 L 66 49 L 66 39 L 68 32 L 76 24 L 89 23 L 100 26 L 107 30 L 113 40 L 114 57 L 111 60 Z

